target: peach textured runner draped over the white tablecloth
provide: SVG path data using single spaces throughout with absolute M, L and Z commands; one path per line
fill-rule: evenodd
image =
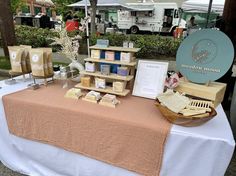
M 145 176 L 160 173 L 171 124 L 153 100 L 120 98 L 117 108 L 64 98 L 51 84 L 3 97 L 9 131 L 126 168 Z

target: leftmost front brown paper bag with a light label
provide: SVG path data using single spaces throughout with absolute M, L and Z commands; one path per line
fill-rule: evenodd
M 11 62 L 11 71 L 14 73 L 23 73 L 25 71 L 22 68 L 22 53 L 23 49 L 19 48 L 18 46 L 9 46 L 9 55 L 10 55 L 10 62 Z

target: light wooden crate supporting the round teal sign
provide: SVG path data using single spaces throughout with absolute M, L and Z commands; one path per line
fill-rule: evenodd
M 214 107 L 218 106 L 224 99 L 226 84 L 220 82 L 211 82 L 209 85 L 195 84 L 184 79 L 175 88 L 178 92 L 184 92 L 187 95 L 210 100 Z

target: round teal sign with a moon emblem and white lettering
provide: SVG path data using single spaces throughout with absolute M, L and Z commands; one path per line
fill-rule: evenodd
M 221 78 L 233 59 L 234 47 L 228 36 L 215 29 L 203 29 L 181 43 L 176 67 L 189 81 L 207 83 Z

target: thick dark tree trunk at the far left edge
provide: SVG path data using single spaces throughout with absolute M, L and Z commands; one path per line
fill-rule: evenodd
M 9 56 L 7 46 L 15 45 L 16 43 L 10 0 L 0 1 L 0 31 L 4 54 L 5 56 Z

